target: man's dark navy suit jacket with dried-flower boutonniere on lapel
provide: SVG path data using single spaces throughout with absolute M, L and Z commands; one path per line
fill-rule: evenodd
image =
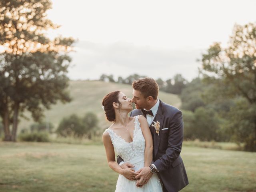
M 130 116 L 143 115 L 141 110 L 134 109 Z M 153 138 L 153 163 L 159 170 L 158 176 L 168 192 L 177 192 L 188 185 L 183 160 L 180 156 L 183 142 L 182 112 L 160 100 L 154 121 L 160 122 L 159 136 L 150 125 Z M 163 129 L 163 130 L 162 130 Z M 118 158 L 118 164 L 122 158 Z

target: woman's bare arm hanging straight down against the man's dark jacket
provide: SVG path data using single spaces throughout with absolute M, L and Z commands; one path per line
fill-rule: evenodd
M 150 133 L 150 129 L 148 128 L 148 122 L 144 116 L 139 117 L 140 128 L 142 130 L 142 134 L 144 136 L 146 145 L 145 145 L 145 158 L 144 158 L 144 166 L 150 166 L 153 158 L 153 140 L 152 135 Z

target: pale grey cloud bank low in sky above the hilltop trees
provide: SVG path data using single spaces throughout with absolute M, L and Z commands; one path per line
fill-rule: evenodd
M 72 52 L 75 66 L 70 68 L 71 79 L 98 79 L 101 74 L 127 77 L 130 74 L 146 75 L 164 80 L 180 73 L 192 80 L 198 74 L 197 58 L 201 50 L 186 48 L 172 50 L 150 46 L 136 46 L 128 42 L 112 44 L 80 41 Z

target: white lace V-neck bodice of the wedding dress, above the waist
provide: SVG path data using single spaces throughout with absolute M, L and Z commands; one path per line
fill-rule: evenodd
M 121 136 L 118 136 L 112 129 L 106 129 L 110 135 L 116 153 L 126 162 L 134 157 L 144 156 L 145 139 L 142 134 L 139 116 L 135 117 L 133 141 L 128 143 Z

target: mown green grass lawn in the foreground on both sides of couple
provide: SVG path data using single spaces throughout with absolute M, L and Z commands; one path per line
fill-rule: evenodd
M 184 146 L 182 192 L 255 192 L 256 153 Z M 0 192 L 113 192 L 102 145 L 0 142 Z

